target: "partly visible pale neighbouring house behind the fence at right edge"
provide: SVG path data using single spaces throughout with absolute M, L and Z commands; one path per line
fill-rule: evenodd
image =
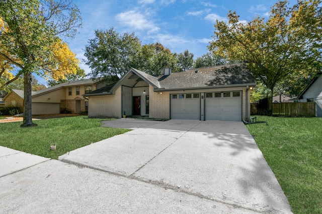
M 322 117 L 322 75 L 315 77 L 306 88 L 291 99 L 293 102 L 315 102 L 315 116 Z

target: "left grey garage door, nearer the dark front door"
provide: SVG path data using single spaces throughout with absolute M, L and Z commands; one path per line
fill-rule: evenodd
M 200 94 L 171 94 L 171 119 L 200 120 Z

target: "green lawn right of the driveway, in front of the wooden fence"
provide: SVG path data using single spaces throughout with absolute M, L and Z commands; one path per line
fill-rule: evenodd
M 322 213 L 322 118 L 257 116 L 247 125 L 294 213 Z

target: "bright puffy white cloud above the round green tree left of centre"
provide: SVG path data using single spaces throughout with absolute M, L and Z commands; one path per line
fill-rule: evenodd
M 136 11 L 120 13 L 116 16 L 116 19 L 134 30 L 147 30 L 149 33 L 157 32 L 159 30 L 158 27 L 155 27 L 153 22 Z

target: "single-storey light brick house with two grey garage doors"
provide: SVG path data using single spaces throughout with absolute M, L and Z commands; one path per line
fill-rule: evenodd
M 89 117 L 146 116 L 157 119 L 250 119 L 250 87 L 244 64 L 165 73 L 154 77 L 131 68 L 115 84 L 84 94 Z

